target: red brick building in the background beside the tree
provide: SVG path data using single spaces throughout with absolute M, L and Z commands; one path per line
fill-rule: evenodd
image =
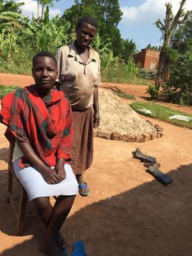
M 141 49 L 133 58 L 135 63 L 140 63 L 146 70 L 155 69 L 159 62 L 159 51 Z

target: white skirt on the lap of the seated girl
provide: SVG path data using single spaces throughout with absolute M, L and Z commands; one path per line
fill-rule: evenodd
M 19 159 L 13 162 L 13 169 L 26 189 L 30 201 L 40 196 L 77 195 L 79 193 L 78 183 L 70 164 L 65 164 L 66 178 L 58 184 L 45 182 L 40 172 L 33 167 L 21 168 Z

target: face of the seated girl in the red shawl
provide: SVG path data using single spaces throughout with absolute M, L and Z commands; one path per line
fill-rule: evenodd
M 58 74 L 55 61 L 47 56 L 37 57 L 33 64 L 32 74 L 39 89 L 51 90 Z

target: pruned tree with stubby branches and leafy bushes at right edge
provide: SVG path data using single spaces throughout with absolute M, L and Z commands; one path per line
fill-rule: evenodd
M 155 86 L 158 90 L 163 87 L 171 102 L 192 105 L 192 11 L 185 12 L 185 3 L 186 0 L 180 1 L 176 15 L 172 4 L 166 3 L 166 17 L 156 21 L 163 44 Z M 155 92 L 152 88 L 149 91 Z

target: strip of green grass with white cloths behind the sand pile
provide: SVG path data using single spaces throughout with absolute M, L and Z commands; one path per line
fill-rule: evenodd
M 157 118 L 161 121 L 168 122 L 170 124 L 184 126 L 184 127 L 188 127 L 189 129 L 192 129 L 192 120 L 190 120 L 189 122 L 186 122 L 186 121 L 177 120 L 177 119 L 169 119 L 169 117 L 173 115 L 184 115 L 192 118 L 192 116 L 189 114 L 186 114 L 171 108 L 166 108 L 156 103 L 132 102 L 130 106 L 132 109 L 134 109 L 134 111 L 140 113 L 141 115 L 150 116 L 153 118 Z M 150 110 L 151 113 L 143 113 L 143 111 L 139 110 L 143 108 Z

